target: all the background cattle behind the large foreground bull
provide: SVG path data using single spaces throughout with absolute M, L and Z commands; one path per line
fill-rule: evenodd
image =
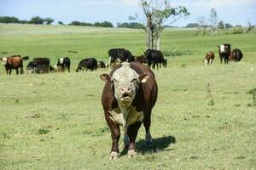
M 221 64 L 223 63 L 223 60 L 224 64 L 227 64 L 230 61 L 238 62 L 243 57 L 240 49 L 236 48 L 231 52 L 231 45 L 229 43 L 218 45 L 218 54 Z M 104 63 L 103 61 L 97 61 L 95 58 L 82 59 L 79 62 L 76 72 L 84 70 L 96 71 L 97 68 L 113 67 L 114 65 L 118 65 L 124 61 L 136 61 L 141 64 L 146 64 L 153 69 L 155 69 L 155 66 L 158 69 L 161 67 L 161 65 L 164 67 L 167 65 L 167 59 L 164 58 L 160 50 L 155 49 L 148 49 L 143 55 L 134 56 L 125 48 L 112 48 L 108 50 L 108 56 L 108 64 Z M 214 57 L 214 53 L 209 51 L 205 57 L 205 64 L 211 65 Z M 16 70 L 16 74 L 19 74 L 19 68 L 20 74 L 23 74 L 23 60 L 28 59 L 28 56 L 21 57 L 20 55 L 13 55 L 0 59 L 3 60 L 3 65 L 5 66 L 7 75 L 11 74 L 12 69 Z M 28 73 L 42 74 L 49 72 L 63 72 L 67 69 L 67 71 L 70 72 L 70 65 L 71 61 L 68 57 L 57 59 L 55 66 L 50 64 L 49 58 L 33 58 L 32 61 L 30 61 L 26 66 L 26 71 Z

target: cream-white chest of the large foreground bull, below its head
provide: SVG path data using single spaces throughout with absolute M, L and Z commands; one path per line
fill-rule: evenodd
M 119 108 L 109 111 L 111 114 L 111 119 L 116 124 L 122 125 L 123 127 L 128 127 L 135 122 L 143 121 L 143 111 L 136 111 L 135 107 L 129 109 L 120 110 Z

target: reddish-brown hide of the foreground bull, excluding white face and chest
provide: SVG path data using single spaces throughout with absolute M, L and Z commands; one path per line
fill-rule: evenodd
M 111 115 L 111 111 L 121 111 L 117 99 L 114 96 L 114 87 L 111 77 L 113 77 L 113 72 L 122 67 L 123 64 L 117 65 L 110 72 L 110 77 L 105 77 L 102 79 L 105 81 L 105 86 L 102 91 L 102 106 L 105 114 L 105 119 L 108 122 L 108 126 L 111 131 L 112 137 L 112 148 L 110 153 L 110 159 L 115 159 L 119 156 L 119 138 L 120 129 L 118 122 L 114 122 L 114 117 Z M 137 62 L 131 62 L 130 68 L 137 72 L 138 75 L 147 76 L 146 82 L 141 82 L 137 88 L 137 94 L 131 103 L 131 108 L 135 108 L 135 111 L 143 114 L 143 122 L 137 121 L 130 124 L 127 127 L 126 135 L 128 136 L 129 142 L 125 143 L 125 147 L 128 149 L 128 156 L 134 156 L 136 152 L 135 140 L 137 138 L 137 132 L 143 123 L 146 130 L 145 142 L 152 143 L 152 138 L 150 135 L 150 123 L 151 123 L 151 111 L 157 99 L 158 87 L 155 81 L 154 73 L 146 65 L 141 65 Z M 101 77 L 102 78 L 102 77 Z M 110 112 L 109 112 L 110 111 Z M 127 116 L 130 115 L 131 112 Z M 124 139 L 125 142 L 125 139 Z

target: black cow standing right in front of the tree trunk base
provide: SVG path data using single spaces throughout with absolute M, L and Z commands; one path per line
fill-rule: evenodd
M 166 67 L 167 59 L 164 59 L 164 56 L 160 50 L 148 49 L 144 54 L 149 67 L 152 65 L 152 67 L 155 68 L 156 65 L 156 68 L 158 69 L 159 66 L 161 67 L 161 64 Z

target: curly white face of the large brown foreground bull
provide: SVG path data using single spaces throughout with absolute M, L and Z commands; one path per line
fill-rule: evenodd
M 122 67 L 113 73 L 114 96 L 119 104 L 123 106 L 131 105 L 137 94 L 139 86 L 139 75 L 130 68 L 129 63 L 124 63 Z

